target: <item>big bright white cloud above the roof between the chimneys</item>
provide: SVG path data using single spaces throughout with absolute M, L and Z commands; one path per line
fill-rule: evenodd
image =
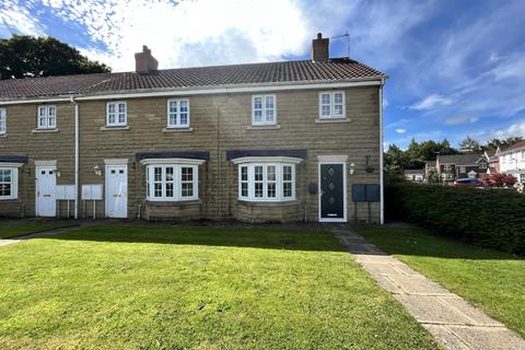
M 306 51 L 315 35 L 294 0 L 44 0 L 55 15 L 85 27 L 81 51 L 114 71 L 135 69 L 152 49 L 160 68 L 279 60 Z M 100 49 L 97 47 L 104 47 Z

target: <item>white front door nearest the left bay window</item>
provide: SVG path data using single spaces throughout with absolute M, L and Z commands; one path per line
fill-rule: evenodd
M 127 165 L 106 165 L 106 217 L 128 217 Z

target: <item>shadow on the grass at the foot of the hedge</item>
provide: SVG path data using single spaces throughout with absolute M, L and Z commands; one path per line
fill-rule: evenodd
M 523 257 L 510 253 L 485 248 L 419 228 L 358 228 L 357 232 L 392 255 L 471 260 L 524 260 Z

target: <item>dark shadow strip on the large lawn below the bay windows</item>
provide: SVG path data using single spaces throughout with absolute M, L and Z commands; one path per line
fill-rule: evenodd
M 322 229 L 312 230 L 306 228 L 209 228 L 144 224 L 96 225 L 42 238 L 101 243 L 346 252 L 331 232 Z

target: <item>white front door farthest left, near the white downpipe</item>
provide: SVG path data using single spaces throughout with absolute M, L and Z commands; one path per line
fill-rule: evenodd
M 36 215 L 57 215 L 57 170 L 55 166 L 36 167 Z

